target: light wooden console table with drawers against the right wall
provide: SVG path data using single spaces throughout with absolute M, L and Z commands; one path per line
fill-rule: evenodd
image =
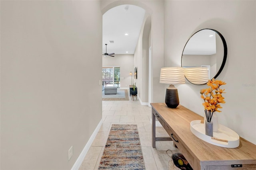
M 173 140 L 194 170 L 256 170 L 256 145 L 240 137 L 237 148 L 207 143 L 190 131 L 190 122 L 203 117 L 186 107 L 171 109 L 164 103 L 152 106 L 152 147 L 156 141 Z M 156 118 L 170 137 L 156 137 Z M 252 130 L 252 131 L 255 131 Z

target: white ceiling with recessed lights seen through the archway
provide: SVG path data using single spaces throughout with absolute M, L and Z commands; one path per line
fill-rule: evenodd
M 108 10 L 102 18 L 102 52 L 106 53 L 105 44 L 108 44 L 107 53 L 134 54 L 144 15 L 145 10 L 134 5 L 120 5 Z

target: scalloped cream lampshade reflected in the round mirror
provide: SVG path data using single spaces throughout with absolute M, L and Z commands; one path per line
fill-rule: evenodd
M 184 68 L 187 80 L 193 84 L 206 84 L 209 80 L 207 67 Z

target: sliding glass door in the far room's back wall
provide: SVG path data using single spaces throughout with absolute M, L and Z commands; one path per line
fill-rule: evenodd
M 120 87 L 120 67 L 102 67 L 102 85 Z

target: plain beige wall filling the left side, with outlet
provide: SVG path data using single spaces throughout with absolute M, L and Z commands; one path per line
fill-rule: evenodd
M 100 2 L 0 8 L 0 169 L 71 169 L 102 119 Z

